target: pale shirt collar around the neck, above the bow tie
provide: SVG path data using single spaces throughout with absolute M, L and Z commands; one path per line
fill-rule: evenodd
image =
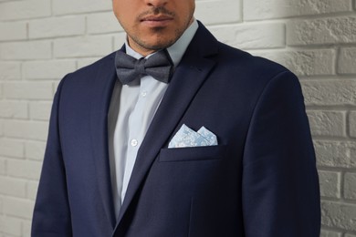
M 169 46 L 167 48 L 167 51 L 168 51 L 170 57 L 172 58 L 174 67 L 177 67 L 177 65 L 181 62 L 181 59 L 185 53 L 185 50 L 191 43 L 198 27 L 199 27 L 198 23 L 194 19 L 194 22 L 191 24 L 191 26 L 189 26 L 184 31 L 183 35 L 173 44 L 173 46 Z M 136 59 L 143 57 L 143 56 L 141 56 L 141 54 L 139 54 L 135 50 L 133 50 L 131 48 L 131 46 L 129 46 L 127 39 L 125 42 L 125 47 L 126 47 L 126 54 L 130 55 L 131 57 L 135 57 Z M 151 57 L 153 54 L 148 55 L 146 58 Z

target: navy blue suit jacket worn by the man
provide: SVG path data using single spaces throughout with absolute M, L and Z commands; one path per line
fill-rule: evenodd
M 115 217 L 108 151 L 114 56 L 58 87 L 32 236 L 319 236 L 319 181 L 298 78 L 219 43 L 202 25 L 141 144 Z M 210 129 L 219 145 L 167 149 L 183 124 Z

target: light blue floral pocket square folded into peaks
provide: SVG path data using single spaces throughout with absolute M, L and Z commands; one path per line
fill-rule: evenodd
M 168 144 L 168 148 L 191 148 L 216 146 L 217 139 L 213 132 L 202 127 L 198 131 L 189 129 L 185 124 L 177 131 Z

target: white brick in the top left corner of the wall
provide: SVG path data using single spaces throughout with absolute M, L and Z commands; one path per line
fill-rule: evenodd
M 51 15 L 51 1 L 26 0 L 0 3 L 0 20 L 18 20 Z

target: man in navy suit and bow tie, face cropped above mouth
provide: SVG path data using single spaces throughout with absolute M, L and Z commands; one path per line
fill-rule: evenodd
M 32 236 L 319 236 L 298 78 L 217 42 L 194 0 L 113 8 L 125 46 L 58 86 Z

